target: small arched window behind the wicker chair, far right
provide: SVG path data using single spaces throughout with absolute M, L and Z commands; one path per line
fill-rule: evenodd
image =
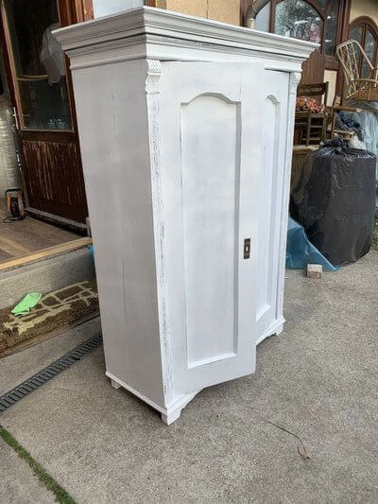
M 372 62 L 373 67 L 375 67 L 378 56 L 378 27 L 374 21 L 365 16 L 355 19 L 350 25 L 349 36 L 362 45 L 367 57 Z M 370 67 L 366 61 L 362 61 L 361 58 L 359 65 L 360 76 L 368 77 Z

